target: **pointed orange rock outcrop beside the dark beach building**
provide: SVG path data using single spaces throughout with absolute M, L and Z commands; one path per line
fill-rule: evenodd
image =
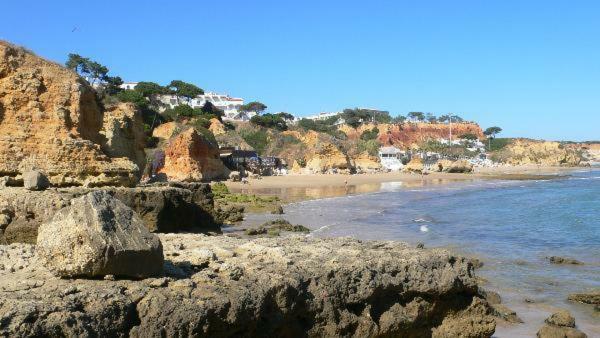
M 188 128 L 169 141 L 165 165 L 158 173 L 169 181 L 209 181 L 227 178 L 229 170 L 219 157 L 219 148 Z

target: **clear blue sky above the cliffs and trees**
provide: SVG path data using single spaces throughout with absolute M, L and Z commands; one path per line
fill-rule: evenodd
M 600 139 L 598 1 L 7 1 L 0 39 L 308 115 L 457 113 Z

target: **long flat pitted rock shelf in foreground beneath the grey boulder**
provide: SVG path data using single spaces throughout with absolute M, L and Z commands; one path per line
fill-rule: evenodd
M 54 277 L 0 246 L 0 335 L 490 337 L 468 261 L 395 242 L 159 235 L 165 277 Z M 9 258 L 10 257 L 10 258 Z

